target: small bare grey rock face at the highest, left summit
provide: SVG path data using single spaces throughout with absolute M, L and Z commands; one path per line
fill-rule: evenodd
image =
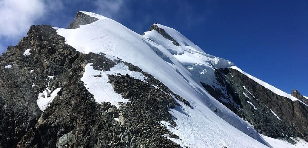
M 70 23 L 67 29 L 76 29 L 76 28 L 79 28 L 80 25 L 91 24 L 97 20 L 98 20 L 97 18 L 90 17 L 89 15 L 84 14 L 82 12 L 78 12 L 75 16 L 74 21 Z

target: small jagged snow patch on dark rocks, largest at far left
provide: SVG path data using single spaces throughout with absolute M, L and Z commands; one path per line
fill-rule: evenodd
M 49 106 L 49 104 L 54 100 L 54 98 L 58 95 L 58 92 L 60 90 L 61 88 L 57 88 L 53 92 L 51 92 L 51 90 L 47 87 L 43 92 L 40 92 L 39 97 L 36 100 L 39 109 L 41 109 L 41 111 L 44 111 Z M 50 97 L 47 97 L 48 95 L 50 95 Z

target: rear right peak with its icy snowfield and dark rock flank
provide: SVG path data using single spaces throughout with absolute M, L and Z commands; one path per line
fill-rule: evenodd
M 172 52 L 179 47 L 172 45 L 170 40 L 167 44 L 162 42 L 166 33 L 180 40 L 183 52 Z M 199 47 L 172 28 L 155 23 L 143 35 L 173 53 L 214 98 L 248 121 L 259 133 L 293 142 L 292 137 L 307 138 L 307 105 L 301 100 L 243 72 L 227 60 L 200 54 Z

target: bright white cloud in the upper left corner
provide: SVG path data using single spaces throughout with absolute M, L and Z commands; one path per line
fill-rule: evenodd
M 61 8 L 59 0 L 0 0 L 0 38 L 20 37 L 48 11 Z

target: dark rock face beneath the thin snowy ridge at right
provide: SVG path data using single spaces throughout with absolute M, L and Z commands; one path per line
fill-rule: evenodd
M 219 84 L 232 96 L 229 99 L 237 102 L 240 108 L 221 101 L 218 89 L 201 84 L 218 101 L 248 121 L 258 133 L 272 138 L 301 137 L 308 140 L 306 105 L 281 97 L 232 68 L 217 69 L 215 74 Z

